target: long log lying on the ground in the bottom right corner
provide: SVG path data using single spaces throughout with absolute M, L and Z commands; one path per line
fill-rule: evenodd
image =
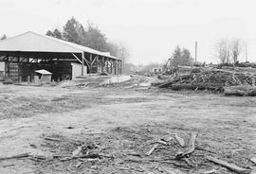
M 233 164 L 229 164 L 225 161 L 222 161 L 222 160 L 218 160 L 216 158 L 213 158 L 211 156 L 207 156 L 206 157 L 210 162 L 213 162 L 215 164 L 218 164 L 218 165 L 222 165 L 222 166 L 225 166 L 227 168 L 229 168 L 229 170 L 235 172 L 235 173 L 238 173 L 238 174 L 249 174 L 251 172 L 250 169 L 247 169 L 247 168 L 242 168 L 238 165 L 233 165 Z

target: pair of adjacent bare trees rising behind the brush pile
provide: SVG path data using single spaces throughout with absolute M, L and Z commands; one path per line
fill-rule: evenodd
M 244 47 L 244 43 L 241 39 L 221 39 L 216 43 L 215 47 L 217 58 L 220 63 L 235 63 L 238 61 Z

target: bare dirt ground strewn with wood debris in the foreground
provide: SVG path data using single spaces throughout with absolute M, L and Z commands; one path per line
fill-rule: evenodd
M 209 92 L 0 84 L 0 158 L 30 154 L 0 160 L 0 173 L 233 173 L 205 156 L 255 167 L 255 106 L 256 97 Z M 174 159 L 184 149 L 174 140 L 145 155 L 167 133 L 188 142 L 192 132 L 187 160 Z M 80 146 L 101 157 L 61 160 Z

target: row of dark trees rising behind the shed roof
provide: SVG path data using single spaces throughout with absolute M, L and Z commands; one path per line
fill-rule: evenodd
M 78 43 L 101 52 L 110 52 L 111 55 L 119 57 L 122 61 L 127 61 L 129 57 L 128 49 L 123 43 L 108 41 L 98 26 L 90 22 L 82 26 L 74 17 L 66 22 L 63 30 L 58 28 L 53 31 L 48 30 L 46 35 L 71 43 Z

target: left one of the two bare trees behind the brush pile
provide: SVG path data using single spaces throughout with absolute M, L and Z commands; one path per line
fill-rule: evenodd
M 217 57 L 221 63 L 229 63 L 229 56 L 230 56 L 230 51 L 229 51 L 229 40 L 226 39 L 221 39 L 216 43 L 216 52 L 217 52 Z

